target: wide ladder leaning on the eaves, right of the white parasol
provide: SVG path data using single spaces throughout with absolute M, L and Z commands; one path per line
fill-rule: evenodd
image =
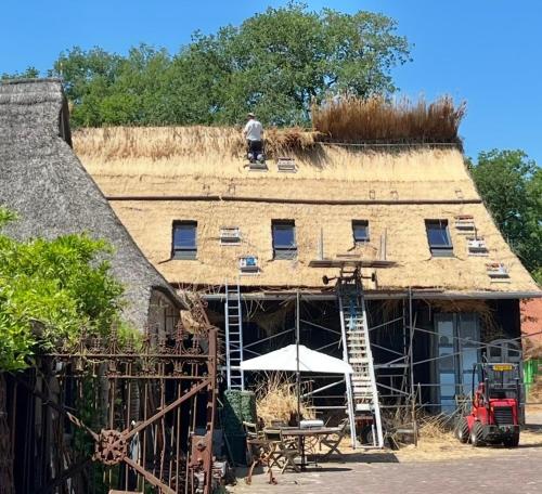
M 345 376 L 347 411 L 350 422 L 352 447 L 356 447 L 356 415 L 370 413 L 376 428 L 374 445 L 384 446 L 378 390 L 369 336 L 365 299 L 359 269 L 350 273 L 341 270 L 337 282 L 337 295 L 343 336 L 343 359 L 353 369 Z

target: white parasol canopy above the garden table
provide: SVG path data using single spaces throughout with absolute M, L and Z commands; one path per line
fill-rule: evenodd
M 244 370 L 297 370 L 295 344 L 243 361 Z M 352 374 L 352 367 L 340 359 L 310 350 L 299 344 L 299 370 L 302 373 Z

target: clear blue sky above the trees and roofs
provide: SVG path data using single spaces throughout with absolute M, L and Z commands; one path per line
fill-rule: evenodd
M 175 52 L 195 29 L 212 32 L 285 1 L 3 0 L 0 73 L 46 70 L 62 50 L 125 53 L 145 42 Z M 399 23 L 413 62 L 393 70 L 401 92 L 467 101 L 466 154 L 522 148 L 542 164 L 542 2 L 538 0 L 313 0 L 311 9 L 382 12 Z

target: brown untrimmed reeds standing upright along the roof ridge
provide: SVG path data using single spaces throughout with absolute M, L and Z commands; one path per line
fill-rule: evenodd
M 450 96 L 428 104 L 408 99 L 389 101 L 341 98 L 312 108 L 315 130 L 340 142 L 461 143 L 457 131 L 465 115 Z

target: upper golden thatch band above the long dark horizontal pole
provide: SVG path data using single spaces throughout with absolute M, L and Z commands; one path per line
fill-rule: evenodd
M 231 153 L 240 135 L 236 129 L 203 127 L 83 129 L 74 134 L 74 147 L 107 196 L 479 200 L 455 146 L 315 143 L 285 153 L 295 159 L 295 173 L 279 171 L 273 158 L 268 171 L 255 172 L 244 153 Z

